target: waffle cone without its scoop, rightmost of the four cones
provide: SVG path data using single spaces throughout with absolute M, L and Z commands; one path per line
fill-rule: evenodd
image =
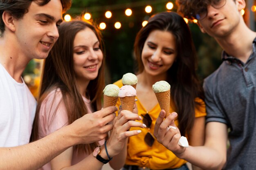
M 162 110 L 166 112 L 165 118 L 170 114 L 170 89 L 166 92 L 155 93 Z

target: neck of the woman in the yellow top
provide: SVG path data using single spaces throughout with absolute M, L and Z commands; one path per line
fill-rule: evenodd
M 141 74 L 138 76 L 138 83 L 143 85 L 144 87 L 150 86 L 152 88 L 152 85 L 155 84 L 157 81 L 166 81 L 166 73 L 152 76 L 143 70 Z

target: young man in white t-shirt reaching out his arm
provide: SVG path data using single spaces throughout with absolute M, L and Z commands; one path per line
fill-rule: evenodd
M 21 74 L 31 59 L 48 56 L 70 5 L 71 0 L 0 0 L 1 170 L 37 169 L 70 146 L 99 141 L 112 129 L 106 124 L 114 119 L 116 107 L 86 114 L 29 143 L 36 101 Z

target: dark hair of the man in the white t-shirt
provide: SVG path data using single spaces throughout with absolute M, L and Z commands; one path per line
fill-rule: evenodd
M 4 33 L 4 22 L 2 20 L 4 11 L 11 13 L 14 18 L 20 19 L 28 12 L 28 8 L 33 1 L 39 6 L 44 6 L 50 2 L 50 0 L 0 0 L 0 35 Z M 71 0 L 61 0 L 63 13 L 70 9 L 71 3 Z

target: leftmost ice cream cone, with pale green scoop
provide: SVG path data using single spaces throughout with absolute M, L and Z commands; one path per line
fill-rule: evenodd
M 118 100 L 119 87 L 117 85 L 106 85 L 103 90 L 103 107 L 115 106 Z

